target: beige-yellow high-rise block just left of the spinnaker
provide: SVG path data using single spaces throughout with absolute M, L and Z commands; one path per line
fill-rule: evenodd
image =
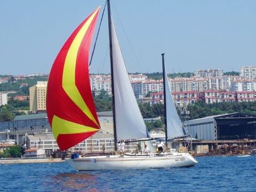
M 46 111 L 47 81 L 37 81 L 37 85 L 29 88 L 30 111 Z

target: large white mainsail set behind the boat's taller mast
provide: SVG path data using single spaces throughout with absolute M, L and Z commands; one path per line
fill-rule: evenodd
M 147 129 L 130 85 L 112 17 L 111 38 L 117 140 L 146 138 Z

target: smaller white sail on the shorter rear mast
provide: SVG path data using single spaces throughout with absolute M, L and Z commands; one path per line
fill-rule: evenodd
M 165 68 L 165 64 L 163 65 Z M 176 137 L 185 136 L 183 131 L 183 126 L 180 121 L 180 117 L 176 111 L 176 107 L 171 96 L 170 86 L 168 83 L 166 70 L 165 74 L 163 74 L 163 78 L 165 78 L 165 95 L 166 95 L 166 118 L 167 118 L 167 139 L 173 139 Z

